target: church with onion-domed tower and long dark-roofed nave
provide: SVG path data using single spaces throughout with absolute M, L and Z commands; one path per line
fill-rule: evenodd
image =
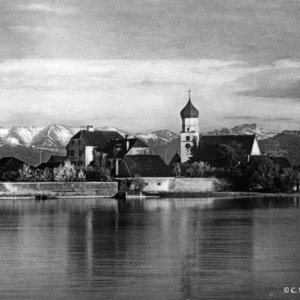
M 194 142 L 201 150 L 201 161 L 206 161 L 211 165 L 217 165 L 217 145 L 237 147 L 239 155 L 243 157 L 249 158 L 252 155 L 261 155 L 255 135 L 200 135 L 198 124 L 199 111 L 191 102 L 190 92 L 188 103 L 181 110 L 180 116 L 182 119 L 182 131 L 180 133 L 181 163 L 187 162 L 191 157 L 191 147 Z

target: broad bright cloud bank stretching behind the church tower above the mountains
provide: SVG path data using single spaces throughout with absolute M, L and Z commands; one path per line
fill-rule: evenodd
M 295 82 L 296 65 L 286 66 L 215 60 L 6 60 L 0 62 L 0 118 L 14 124 L 17 113 L 40 112 L 43 118 L 32 122 L 70 124 L 77 116 L 82 124 L 130 132 L 179 131 L 179 112 L 191 89 L 203 132 L 249 120 L 289 128 L 295 125 L 297 104 L 243 94 L 281 80 Z

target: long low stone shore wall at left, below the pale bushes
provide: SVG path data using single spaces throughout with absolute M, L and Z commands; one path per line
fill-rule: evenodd
M 117 182 L 0 182 L 0 197 L 36 194 L 114 197 L 117 193 Z

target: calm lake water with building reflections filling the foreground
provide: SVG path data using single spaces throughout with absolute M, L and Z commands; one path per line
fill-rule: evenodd
M 300 299 L 299 198 L 0 201 L 0 299 Z

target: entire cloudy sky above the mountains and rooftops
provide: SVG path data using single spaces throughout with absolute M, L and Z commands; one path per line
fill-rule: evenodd
M 300 0 L 0 0 L 0 126 L 300 129 Z

